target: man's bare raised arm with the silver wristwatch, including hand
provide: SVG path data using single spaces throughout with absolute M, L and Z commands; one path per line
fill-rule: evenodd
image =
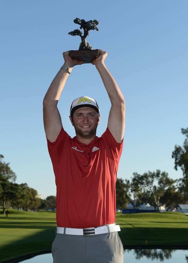
M 75 65 L 83 64 L 82 61 L 74 60 L 69 57 L 69 51 L 63 53 L 65 60 L 64 66 L 73 69 Z M 54 142 L 62 128 L 61 117 L 57 108 L 57 103 L 61 96 L 69 72 L 65 69 L 60 69 L 54 77 L 52 83 L 43 100 L 43 120 L 46 137 L 50 142 Z

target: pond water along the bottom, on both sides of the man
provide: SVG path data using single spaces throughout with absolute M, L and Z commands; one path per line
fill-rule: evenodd
M 52 263 L 52 254 L 38 255 L 23 263 Z M 188 250 L 181 249 L 125 249 L 124 263 L 188 263 Z

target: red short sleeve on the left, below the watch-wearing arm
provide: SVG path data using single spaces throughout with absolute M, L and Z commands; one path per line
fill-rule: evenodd
M 69 134 L 66 133 L 66 131 L 64 131 L 63 127 L 61 131 L 59 132 L 57 139 L 54 142 L 50 142 L 47 139 L 48 152 L 49 152 L 49 156 L 52 162 L 58 162 L 58 160 L 60 160 L 62 148 L 65 142 L 69 139 L 70 139 L 70 136 Z

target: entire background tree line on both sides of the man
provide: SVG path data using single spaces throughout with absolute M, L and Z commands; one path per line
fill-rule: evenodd
M 172 158 L 175 159 L 174 169 L 180 167 L 183 177 L 173 180 L 167 172 L 156 170 L 144 174 L 135 172 L 131 180 L 117 178 L 116 207 L 126 208 L 131 203 L 136 208 L 149 203 L 159 211 L 162 205 L 172 210 L 180 203 L 188 203 L 188 128 L 181 130 L 186 139 L 183 147 L 175 145 Z M 50 195 L 43 200 L 37 197 L 37 190 L 30 188 L 28 184 L 16 184 L 16 174 L 3 158 L 0 154 L 0 205 L 3 213 L 6 207 L 34 211 L 56 208 L 56 196 Z

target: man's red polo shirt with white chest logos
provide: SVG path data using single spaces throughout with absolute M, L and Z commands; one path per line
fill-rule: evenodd
M 57 186 L 57 226 L 87 228 L 113 224 L 116 217 L 117 170 L 123 142 L 108 127 L 88 145 L 63 127 L 54 142 L 47 139 Z

